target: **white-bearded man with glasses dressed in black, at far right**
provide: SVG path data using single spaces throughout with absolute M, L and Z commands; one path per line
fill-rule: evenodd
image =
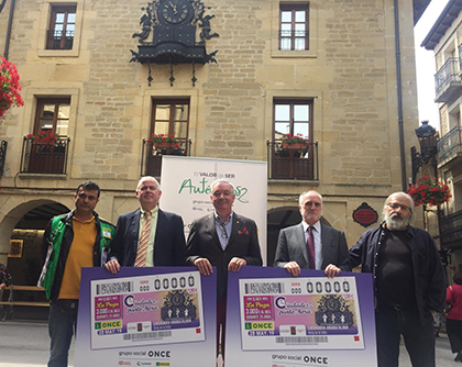
M 442 311 L 446 290 L 437 246 L 410 225 L 414 201 L 407 193 L 392 193 L 383 215 L 350 249 L 352 266 L 373 275 L 378 367 L 398 366 L 400 335 L 414 367 L 435 367 L 431 311 Z

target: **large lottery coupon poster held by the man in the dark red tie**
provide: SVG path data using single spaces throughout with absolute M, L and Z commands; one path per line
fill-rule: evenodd
M 370 274 L 243 267 L 227 310 L 227 367 L 377 366 Z

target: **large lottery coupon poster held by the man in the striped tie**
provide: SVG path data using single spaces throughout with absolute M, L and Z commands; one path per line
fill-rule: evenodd
M 194 267 L 84 268 L 75 366 L 215 366 L 216 287 Z

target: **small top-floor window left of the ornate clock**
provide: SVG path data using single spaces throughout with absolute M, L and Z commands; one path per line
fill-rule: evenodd
M 47 32 L 47 49 L 73 49 L 76 30 L 76 7 L 52 5 Z

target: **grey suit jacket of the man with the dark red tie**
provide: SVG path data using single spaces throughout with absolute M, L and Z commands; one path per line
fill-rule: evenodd
M 333 264 L 343 271 L 351 271 L 346 238 L 342 231 L 321 223 L 321 244 L 322 269 Z M 297 262 L 300 268 L 309 268 L 308 249 L 301 223 L 279 232 L 274 266 L 284 267 L 289 262 Z

